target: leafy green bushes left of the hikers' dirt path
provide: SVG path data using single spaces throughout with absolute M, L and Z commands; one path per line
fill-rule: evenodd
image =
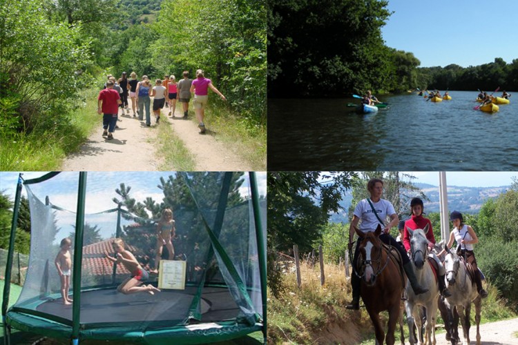
M 39 1 L 28 0 L 0 8 L 4 134 L 43 132 L 69 121 L 68 111 L 77 105 L 77 88 L 85 79 L 76 72 L 90 63 L 81 26 L 52 23 L 39 6 Z

